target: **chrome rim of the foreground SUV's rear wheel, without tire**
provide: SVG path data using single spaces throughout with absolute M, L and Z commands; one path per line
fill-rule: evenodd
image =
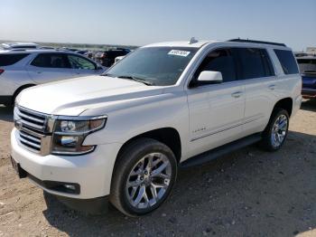
M 271 133 L 271 141 L 274 147 L 280 147 L 286 136 L 288 128 L 288 119 L 285 115 L 280 115 L 275 119 L 274 126 Z

